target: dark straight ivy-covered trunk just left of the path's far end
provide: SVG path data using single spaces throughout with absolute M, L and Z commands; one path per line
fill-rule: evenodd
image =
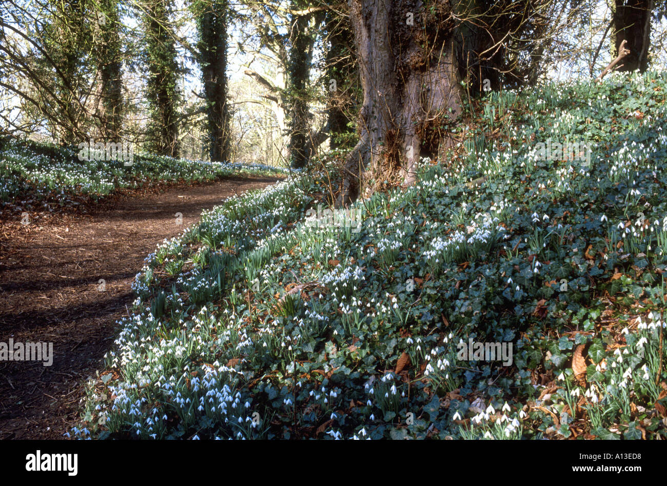
M 206 99 L 207 145 L 211 161 L 229 159 L 229 105 L 227 105 L 227 0 L 201 2 L 199 64 Z

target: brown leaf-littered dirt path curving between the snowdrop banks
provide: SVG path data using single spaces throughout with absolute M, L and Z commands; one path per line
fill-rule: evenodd
M 137 191 L 70 213 L 47 213 L 29 225 L 19 217 L 2 221 L 0 342 L 50 342 L 54 357 L 47 367 L 0 361 L 0 439 L 63 438 L 79 419 L 85 379 L 113 345 L 143 259 L 197 221 L 202 209 L 276 180 L 163 187 L 163 193 Z M 175 213 L 182 213 L 183 225 Z

